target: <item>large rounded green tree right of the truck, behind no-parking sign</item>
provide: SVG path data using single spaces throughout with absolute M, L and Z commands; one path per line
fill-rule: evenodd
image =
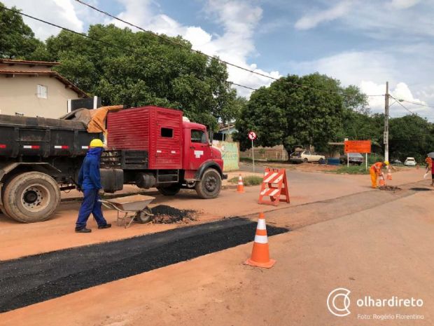
M 341 91 L 339 81 L 318 73 L 286 76 L 255 90 L 237 121 L 241 149 L 248 148 L 249 130 L 265 147 L 283 144 L 288 152 L 297 144 L 324 148 L 341 126 Z

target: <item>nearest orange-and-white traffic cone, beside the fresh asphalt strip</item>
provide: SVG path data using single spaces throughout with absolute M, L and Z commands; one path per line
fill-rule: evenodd
M 256 227 L 255 242 L 251 257 L 244 262 L 246 265 L 271 268 L 276 261 L 269 259 L 267 226 L 264 213 L 259 214 L 258 226 Z

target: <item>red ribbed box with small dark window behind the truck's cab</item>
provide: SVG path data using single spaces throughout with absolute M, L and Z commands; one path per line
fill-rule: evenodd
M 148 168 L 182 168 L 182 112 L 136 107 L 107 117 L 109 149 L 148 151 Z

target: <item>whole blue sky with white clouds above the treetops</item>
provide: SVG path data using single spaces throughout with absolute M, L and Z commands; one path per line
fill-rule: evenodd
M 2 1 L 79 32 L 113 22 L 74 0 Z M 198 50 L 267 76 L 321 72 L 369 95 L 384 94 L 389 81 L 393 96 L 434 104 L 433 0 L 83 1 L 146 29 L 180 34 Z M 41 39 L 58 32 L 26 22 Z M 231 81 L 253 88 L 272 82 L 233 67 L 229 72 Z M 402 104 L 434 118 L 434 108 Z M 370 106 L 382 111 L 384 99 L 371 97 Z M 391 116 L 407 113 L 398 104 L 391 109 Z

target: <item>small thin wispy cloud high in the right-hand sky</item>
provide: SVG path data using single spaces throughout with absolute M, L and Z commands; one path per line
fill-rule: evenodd
M 351 10 L 353 1 L 342 1 L 337 5 L 329 8 L 325 11 L 317 11 L 315 13 L 309 13 L 295 22 L 296 29 L 311 29 L 316 27 L 321 22 L 330 22 L 337 18 L 346 15 Z

